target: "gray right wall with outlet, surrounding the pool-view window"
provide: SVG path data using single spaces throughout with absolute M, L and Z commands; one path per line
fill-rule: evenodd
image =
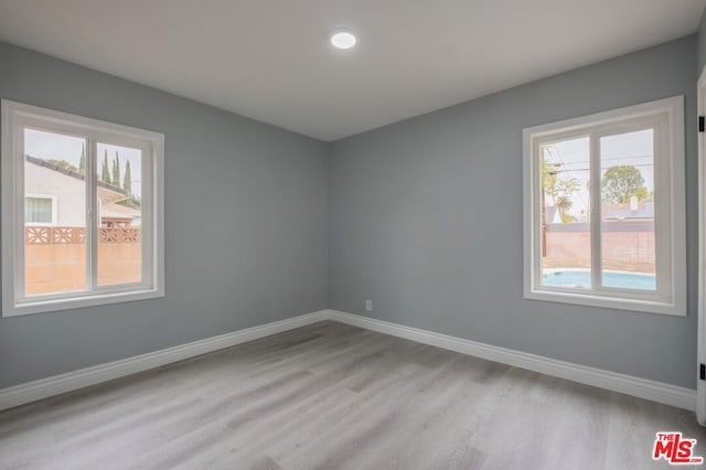
M 331 308 L 695 388 L 696 36 L 339 140 Z M 524 300 L 522 129 L 686 99 L 688 318 Z

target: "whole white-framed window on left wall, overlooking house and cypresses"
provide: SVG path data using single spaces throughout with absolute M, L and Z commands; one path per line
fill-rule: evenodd
M 2 100 L 2 316 L 162 297 L 163 136 Z

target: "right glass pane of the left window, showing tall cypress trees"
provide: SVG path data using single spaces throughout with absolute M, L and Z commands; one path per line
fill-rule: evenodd
M 142 280 L 142 151 L 98 143 L 98 285 Z

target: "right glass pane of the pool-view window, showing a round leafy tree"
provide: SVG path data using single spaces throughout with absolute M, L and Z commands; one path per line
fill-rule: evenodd
M 654 132 L 600 139 L 601 282 L 655 290 Z

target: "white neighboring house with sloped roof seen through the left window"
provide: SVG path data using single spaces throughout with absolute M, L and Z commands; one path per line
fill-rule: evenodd
M 25 156 L 24 220 L 26 225 L 83 227 L 86 224 L 85 177 L 35 157 Z M 101 226 L 139 226 L 139 210 L 118 204 L 127 191 L 98 182 Z

